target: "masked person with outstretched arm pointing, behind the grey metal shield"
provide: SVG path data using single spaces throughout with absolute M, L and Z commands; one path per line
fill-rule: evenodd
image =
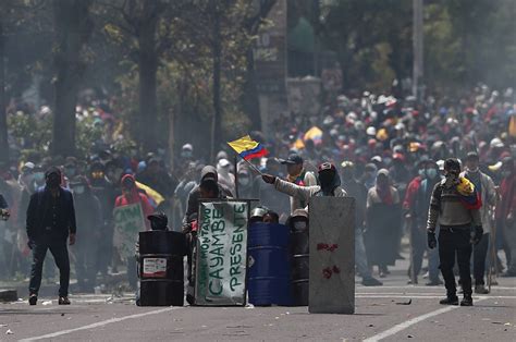
M 308 204 L 312 196 L 333 196 L 346 197 L 347 194 L 341 187 L 341 178 L 336 168 L 331 162 L 323 162 L 318 168 L 318 183 L 319 185 L 300 186 L 287 181 L 283 181 L 272 174 L 263 174 L 262 180 L 266 183 L 274 184 L 277 191 L 287 194 L 292 197 L 297 197 L 304 203 Z

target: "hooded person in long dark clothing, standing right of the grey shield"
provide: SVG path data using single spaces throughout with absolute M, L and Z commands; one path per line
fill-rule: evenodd
M 376 185 L 367 194 L 366 251 L 371 266 L 377 265 L 380 278 L 388 273 L 388 265 L 394 265 L 402 228 L 400 195 L 391 185 L 389 171 L 378 171 Z

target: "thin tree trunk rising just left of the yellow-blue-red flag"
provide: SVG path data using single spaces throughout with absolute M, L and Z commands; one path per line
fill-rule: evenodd
M 217 149 L 220 147 L 222 141 L 221 134 L 221 118 L 222 118 L 222 106 L 221 106 L 221 53 L 222 53 L 222 41 L 220 36 L 220 12 L 217 9 L 217 4 L 213 3 L 213 119 L 211 126 L 211 154 L 210 159 L 214 160 Z

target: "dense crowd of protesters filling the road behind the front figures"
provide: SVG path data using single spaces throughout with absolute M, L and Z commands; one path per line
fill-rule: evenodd
M 206 156 L 196 154 L 201 147 L 189 143 L 177 152 L 173 170 L 163 150 L 140 155 L 137 149 L 121 154 L 105 148 L 91 150 L 87 159 L 14 160 L 0 166 L 4 198 L 0 205 L 11 216 L 0 223 L 0 278 L 28 274 L 27 208 L 32 195 L 45 186 L 46 172 L 57 167 L 60 184 L 75 201 L 77 244 L 72 249 L 72 271 L 79 291 L 94 291 L 101 279 L 124 267 L 113 242 L 114 207 L 140 203 L 145 217 L 161 210 L 171 218 L 171 229 L 187 231 L 198 198 L 224 194 L 257 198 L 255 206 L 285 222 L 314 195 L 293 196 L 290 184 L 319 186 L 320 192 L 328 184 L 355 197 L 356 265 L 364 284 L 381 285 L 373 267 L 380 278 L 388 277 L 389 267 L 402 258 L 403 236 L 409 235 L 407 276 L 417 281 L 427 254 L 428 284 L 437 285 L 442 283 L 440 261 L 439 254 L 427 248 L 428 209 L 432 190 L 443 179 L 444 160 L 455 157 L 482 198 L 484 237 L 475 247 L 474 276 L 476 289 L 484 291 L 491 245 L 504 251 L 506 262 L 497 259 L 488 267 L 516 276 L 515 103 L 513 89 L 499 93 L 484 85 L 464 96 L 435 95 L 425 101 L 368 91 L 341 95 L 319 115 L 279 117 L 272 132 L 251 132 L 269 150 L 266 158 L 251 160 L 262 173 L 274 176 L 267 182 L 245 162 L 234 170 L 229 148 L 206 162 Z M 280 185 L 277 179 L 283 180 Z M 204 186 L 205 180 L 216 180 L 218 187 Z M 52 277 L 51 269 L 44 274 Z M 130 279 L 134 285 L 135 277 Z

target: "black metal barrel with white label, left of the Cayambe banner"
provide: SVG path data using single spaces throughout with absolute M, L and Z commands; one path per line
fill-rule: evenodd
M 186 242 L 183 233 L 139 233 L 139 305 L 183 306 Z

